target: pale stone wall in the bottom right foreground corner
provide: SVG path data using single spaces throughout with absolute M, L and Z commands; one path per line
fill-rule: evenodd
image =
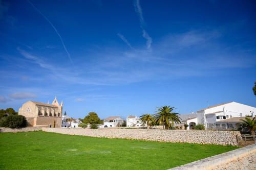
M 172 168 L 172 170 L 194 169 L 256 169 L 256 144 Z

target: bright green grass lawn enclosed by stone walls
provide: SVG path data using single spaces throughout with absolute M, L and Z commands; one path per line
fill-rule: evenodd
M 167 169 L 234 149 L 42 131 L 0 133 L 0 169 Z

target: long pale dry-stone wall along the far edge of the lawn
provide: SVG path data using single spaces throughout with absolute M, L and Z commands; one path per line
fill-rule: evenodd
M 42 128 L 46 132 L 70 135 L 83 135 L 106 138 L 127 138 L 163 142 L 187 142 L 201 144 L 238 145 L 238 131 L 192 131 L 192 130 L 158 130 L 158 129 L 76 129 L 76 128 Z

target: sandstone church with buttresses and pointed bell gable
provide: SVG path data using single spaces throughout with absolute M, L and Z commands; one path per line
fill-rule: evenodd
M 28 126 L 61 128 L 63 102 L 59 105 L 55 96 L 52 104 L 28 101 L 19 108 L 18 114 L 27 118 Z

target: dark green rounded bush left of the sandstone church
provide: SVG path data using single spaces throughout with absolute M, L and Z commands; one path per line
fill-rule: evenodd
M 10 114 L 1 119 L 0 126 L 6 128 L 24 128 L 28 126 L 28 122 L 23 115 Z

